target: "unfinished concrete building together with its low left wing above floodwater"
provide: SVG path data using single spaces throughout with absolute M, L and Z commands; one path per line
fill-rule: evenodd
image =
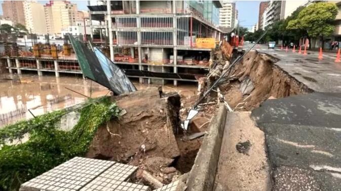
M 208 73 L 211 50 L 230 32 L 217 27 L 219 1 L 96 3 L 88 3 L 91 30 L 78 38 L 92 41 L 140 83 L 196 82 Z M 2 36 L 2 61 L 10 73 L 82 74 L 67 38 L 62 45 L 31 41 L 31 51 L 26 45 L 20 50 L 16 39 Z

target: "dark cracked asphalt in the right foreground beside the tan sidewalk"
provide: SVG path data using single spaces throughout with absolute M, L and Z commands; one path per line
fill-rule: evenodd
M 341 190 L 341 93 L 268 100 L 252 117 L 266 136 L 274 190 Z

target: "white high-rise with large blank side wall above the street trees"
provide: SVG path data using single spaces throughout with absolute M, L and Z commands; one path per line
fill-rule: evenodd
M 298 7 L 305 6 L 307 2 L 308 1 L 270 1 L 263 13 L 263 17 L 265 16 L 264 28 L 276 21 L 286 19 Z

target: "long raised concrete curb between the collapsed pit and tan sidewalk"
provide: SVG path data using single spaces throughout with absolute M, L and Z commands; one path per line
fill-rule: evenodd
M 219 104 L 217 114 L 209 124 L 208 134 L 203 140 L 186 182 L 186 190 L 212 190 L 217 169 L 221 141 L 225 127 L 227 109 Z

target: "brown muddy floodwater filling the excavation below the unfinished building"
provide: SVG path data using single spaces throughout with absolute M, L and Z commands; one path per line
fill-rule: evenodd
M 137 89 L 158 85 L 138 84 Z M 108 89 L 96 82 L 76 77 L 37 76 L 37 75 L 0 75 L 0 127 L 22 119 L 30 119 L 47 112 L 70 107 L 84 102 L 87 97 L 72 92 L 73 89 L 87 97 L 100 97 Z M 91 89 L 91 91 L 90 91 Z M 164 85 L 163 90 L 177 91 L 185 97 L 197 93 L 196 85 Z M 29 111 L 31 112 L 29 112 Z

